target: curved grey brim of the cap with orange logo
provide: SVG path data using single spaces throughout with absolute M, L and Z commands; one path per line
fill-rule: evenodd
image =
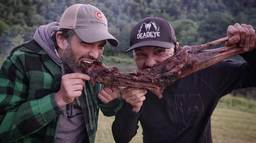
M 119 44 L 118 40 L 105 29 L 76 28 L 74 31 L 81 40 L 88 43 L 107 40 L 114 47 L 117 47 Z

